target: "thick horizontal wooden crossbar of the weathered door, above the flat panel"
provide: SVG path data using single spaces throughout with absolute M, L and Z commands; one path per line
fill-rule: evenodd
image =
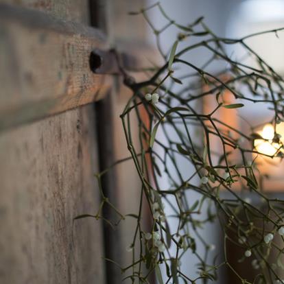
M 106 47 L 97 29 L 0 4 L 0 130 L 102 98 L 110 78 L 89 69 L 95 47 Z

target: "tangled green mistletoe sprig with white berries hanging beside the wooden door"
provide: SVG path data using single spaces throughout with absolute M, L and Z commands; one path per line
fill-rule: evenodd
M 150 21 L 151 9 L 158 9 L 165 17 L 167 24 L 161 29 L 156 29 Z M 150 274 L 155 272 L 159 284 L 206 283 L 217 279 L 217 270 L 225 267 L 239 278 L 239 283 L 284 283 L 281 280 L 284 200 L 265 193 L 265 177 L 259 173 L 258 160 L 252 161 L 253 156 L 283 157 L 283 140 L 276 126 L 284 118 L 284 81 L 246 42 L 248 38 L 276 34 L 283 29 L 238 39 L 222 38 L 206 26 L 203 18 L 180 25 L 165 13 L 160 3 L 130 14 L 143 16 L 150 25 L 164 62 L 143 70 L 148 76 L 143 82 L 134 82 L 123 71 L 124 82 L 132 90 L 132 97 L 121 114 L 130 157 L 115 165 L 132 159 L 141 181 L 140 206 L 137 215 L 132 215 L 137 219 L 137 226 L 128 248 L 132 252 L 132 263 L 121 268 L 125 279 L 131 279 L 132 283 L 149 283 Z M 161 35 L 171 26 L 178 29 L 178 34 L 171 50 L 165 52 Z M 192 38 L 198 40 L 191 43 Z M 244 60 L 230 58 L 226 53 L 229 45 L 241 46 L 257 66 L 250 67 Z M 206 49 L 211 54 L 202 67 L 185 58 L 196 49 Z M 211 73 L 209 67 L 214 62 L 224 62 L 226 67 L 219 73 Z M 178 67 L 187 71 L 180 75 Z M 233 97 L 230 104 L 226 102 L 226 93 Z M 202 106 L 204 102 L 211 102 L 210 110 L 198 108 L 198 104 Z M 272 110 L 272 141 L 260 137 L 253 127 L 250 132 L 244 132 L 217 115 L 224 109 L 235 113 L 246 106 L 246 102 L 265 103 Z M 133 114 L 138 121 L 135 126 Z M 139 147 L 133 143 L 133 127 L 139 129 Z M 259 152 L 255 139 L 276 147 L 274 153 Z M 220 147 L 215 147 L 214 141 Z M 188 174 L 185 174 L 185 165 Z M 98 180 L 106 171 L 97 175 Z M 161 180 L 168 181 L 166 187 Z M 191 204 L 189 197 L 193 191 L 200 199 Z M 246 193 L 261 202 L 255 204 L 244 197 Z M 102 206 L 104 202 L 109 201 L 103 195 Z M 147 202 L 152 216 L 151 230 L 145 230 L 141 223 L 143 202 Z M 172 215 L 165 213 L 165 206 Z M 202 212 L 206 212 L 204 219 L 200 217 Z M 99 211 L 96 217 L 101 216 Z M 120 213 L 119 217 L 123 218 Z M 169 226 L 173 218 L 176 228 Z M 202 227 L 209 222 L 220 222 L 224 237 L 224 256 L 213 260 L 210 255 L 214 244 L 208 244 L 202 237 Z M 204 253 L 196 248 L 196 239 L 201 241 Z M 252 269 L 257 271 L 253 282 L 244 279 L 230 263 L 228 244 L 243 252 L 240 261 L 251 260 Z M 185 254 L 198 259 L 198 276 L 187 275 L 182 270 Z

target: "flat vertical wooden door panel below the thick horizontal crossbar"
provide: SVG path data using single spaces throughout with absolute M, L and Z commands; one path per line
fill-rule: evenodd
M 104 283 L 93 106 L 0 134 L 0 283 Z

